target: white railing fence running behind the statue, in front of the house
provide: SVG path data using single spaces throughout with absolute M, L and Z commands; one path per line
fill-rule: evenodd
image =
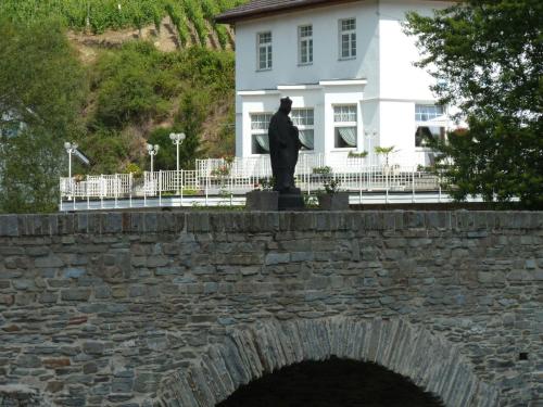
M 411 192 L 440 190 L 439 178 L 417 167 L 400 165 L 366 166 L 364 158 L 344 161 L 341 171 L 329 175 L 315 174 L 321 167 L 318 155 L 301 155 L 296 166 L 296 186 L 311 194 L 324 189 L 331 179 L 340 182 L 340 189 L 352 193 Z M 62 201 L 119 200 L 159 196 L 231 196 L 255 189 L 262 179 L 269 180 L 269 158 L 199 161 L 197 170 L 146 171 L 142 177 L 132 174 L 87 176 L 85 180 L 61 178 Z

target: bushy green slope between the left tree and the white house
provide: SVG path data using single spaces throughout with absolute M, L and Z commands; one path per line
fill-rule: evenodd
M 80 145 L 92 158 L 94 174 L 125 171 L 129 163 L 148 168 L 146 142 L 161 145 L 156 169 L 175 169 L 171 132 L 187 135 L 180 165 L 193 168 L 204 152 L 205 122 L 217 106 L 233 101 L 230 51 L 195 47 L 165 53 L 135 41 L 104 52 L 92 72 L 94 103 Z M 218 131 L 223 133 L 222 128 Z M 224 144 L 231 145 L 227 140 Z

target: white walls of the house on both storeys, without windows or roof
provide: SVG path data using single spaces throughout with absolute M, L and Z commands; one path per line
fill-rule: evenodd
M 415 163 L 420 156 L 415 149 L 415 104 L 431 104 L 435 100 L 430 91 L 433 79 L 414 66 L 420 55 L 415 39 L 403 33 L 402 22 L 407 11 L 430 14 L 432 9 L 447 4 L 428 0 L 367 0 L 237 24 L 237 155 L 251 155 L 250 113 L 276 112 L 279 99 L 289 96 L 294 100 L 293 107 L 315 110 L 315 152 L 326 153 L 331 162 L 346 156 L 345 150 L 333 147 L 333 105 L 355 103 L 358 105 L 357 150 L 371 153 L 376 145 L 395 145 L 403 162 Z M 340 61 L 338 22 L 349 17 L 356 18 L 357 56 Z M 314 61 L 312 65 L 299 66 L 298 27 L 306 24 L 313 25 Z M 258 72 L 256 36 L 262 31 L 273 34 L 273 68 Z M 357 78 L 367 79 L 367 84 L 277 90 L 283 85 Z M 266 94 L 241 97 L 239 93 L 266 89 L 270 90 Z M 369 140 L 366 131 L 369 137 L 372 132 L 376 136 Z

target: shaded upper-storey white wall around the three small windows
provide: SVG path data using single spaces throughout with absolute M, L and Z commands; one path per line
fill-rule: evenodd
M 339 60 L 341 18 L 356 17 L 357 56 Z M 298 65 L 298 27 L 313 24 L 314 60 L 312 65 Z M 256 35 L 272 31 L 273 69 L 256 69 Z M 279 16 L 241 22 L 236 25 L 237 90 L 275 89 L 278 85 L 317 84 L 323 79 L 367 78 L 366 92 L 377 96 L 378 85 L 377 2 L 340 4 Z M 369 80 L 370 79 L 370 80 Z

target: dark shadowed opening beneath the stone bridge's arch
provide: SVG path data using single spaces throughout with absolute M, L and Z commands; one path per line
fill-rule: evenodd
M 408 379 L 379 365 L 331 357 L 302 361 L 238 389 L 217 407 L 442 407 Z

